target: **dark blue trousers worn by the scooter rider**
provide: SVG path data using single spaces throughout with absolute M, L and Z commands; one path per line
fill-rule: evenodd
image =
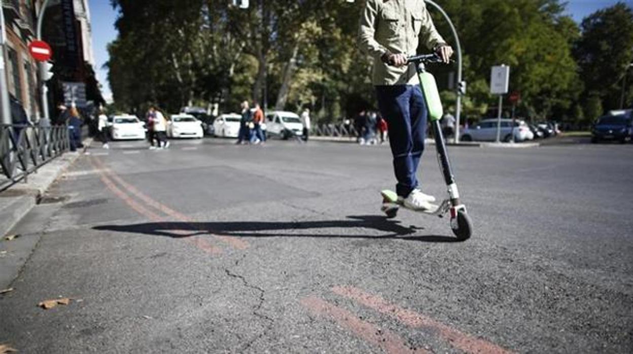
M 418 85 L 376 86 L 378 106 L 389 126 L 396 193 L 406 198 L 418 187 L 416 172 L 427 136 L 427 105 Z

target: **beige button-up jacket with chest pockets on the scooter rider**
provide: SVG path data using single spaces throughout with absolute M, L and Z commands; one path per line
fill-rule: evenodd
M 413 66 L 389 66 L 380 60 L 380 56 L 387 51 L 415 55 L 420 35 L 429 49 L 444 43 L 424 0 L 365 1 L 360 17 L 358 42 L 361 49 L 374 58 L 374 85 L 418 84 Z

